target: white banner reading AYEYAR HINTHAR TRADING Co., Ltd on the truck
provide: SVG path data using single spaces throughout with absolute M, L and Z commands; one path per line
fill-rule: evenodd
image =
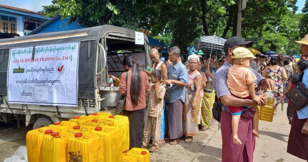
M 77 106 L 79 42 L 12 48 L 9 103 Z

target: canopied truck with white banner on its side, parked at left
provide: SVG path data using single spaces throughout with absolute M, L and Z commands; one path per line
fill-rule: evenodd
M 33 129 L 77 115 L 115 114 L 125 56 L 152 67 L 144 33 L 103 25 L 0 39 L 0 121 Z

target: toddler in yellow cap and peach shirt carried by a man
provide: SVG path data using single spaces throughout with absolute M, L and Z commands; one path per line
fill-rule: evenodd
M 250 61 L 256 57 L 249 51 L 249 49 L 244 47 L 235 48 L 232 52 L 231 58 L 233 59 L 233 66 L 230 67 L 228 72 L 227 84 L 230 92 L 233 96 L 244 99 L 253 99 L 258 105 L 261 104 L 261 98 L 256 95 L 255 88 L 256 77 L 249 69 Z M 251 108 L 252 106 L 249 106 Z M 259 137 L 258 129 L 258 108 L 256 108 L 256 113 L 253 115 L 253 134 Z M 244 110 L 243 106 L 234 107 L 228 106 L 232 115 L 232 133 L 233 133 L 233 143 L 242 144 L 241 140 L 237 136 L 238 123 L 241 117 L 241 113 Z

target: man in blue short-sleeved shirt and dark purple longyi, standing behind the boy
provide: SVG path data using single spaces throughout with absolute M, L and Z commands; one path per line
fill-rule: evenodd
M 172 139 L 171 145 L 179 143 L 180 137 L 183 136 L 182 115 L 188 75 L 185 65 L 180 60 L 180 53 L 179 47 L 169 49 L 169 60 L 171 63 L 168 66 L 168 80 L 163 81 L 163 83 L 172 84 L 171 96 L 167 103 L 168 133 L 170 139 Z

